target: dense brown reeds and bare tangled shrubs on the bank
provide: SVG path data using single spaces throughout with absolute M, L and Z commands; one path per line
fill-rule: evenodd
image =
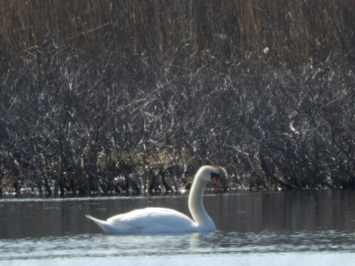
M 355 6 L 0 1 L 0 191 L 355 188 Z

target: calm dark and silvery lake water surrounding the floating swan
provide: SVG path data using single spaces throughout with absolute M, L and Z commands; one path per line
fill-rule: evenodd
M 207 192 L 209 234 L 106 235 L 106 219 L 187 194 L 0 198 L 1 265 L 355 265 L 355 191 Z

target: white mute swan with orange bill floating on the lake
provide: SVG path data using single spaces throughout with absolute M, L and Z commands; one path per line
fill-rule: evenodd
M 189 209 L 192 218 L 172 209 L 146 208 L 133 210 L 108 218 L 106 221 L 86 215 L 97 223 L 105 233 L 174 233 L 174 232 L 201 232 L 215 231 L 216 227 L 203 206 L 203 190 L 208 181 L 212 181 L 219 188 L 218 170 L 213 166 L 202 166 L 193 180 L 190 195 Z

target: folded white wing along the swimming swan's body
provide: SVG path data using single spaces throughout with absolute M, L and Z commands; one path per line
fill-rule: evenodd
M 107 219 L 114 226 L 129 226 L 136 233 L 191 232 L 196 223 L 181 212 L 166 208 L 133 210 Z

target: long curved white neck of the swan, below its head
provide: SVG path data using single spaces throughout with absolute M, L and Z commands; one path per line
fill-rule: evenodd
M 192 183 L 189 195 L 189 209 L 193 220 L 199 227 L 214 228 L 214 223 L 203 206 L 202 197 L 205 185 L 206 182 L 201 179 L 196 179 Z

